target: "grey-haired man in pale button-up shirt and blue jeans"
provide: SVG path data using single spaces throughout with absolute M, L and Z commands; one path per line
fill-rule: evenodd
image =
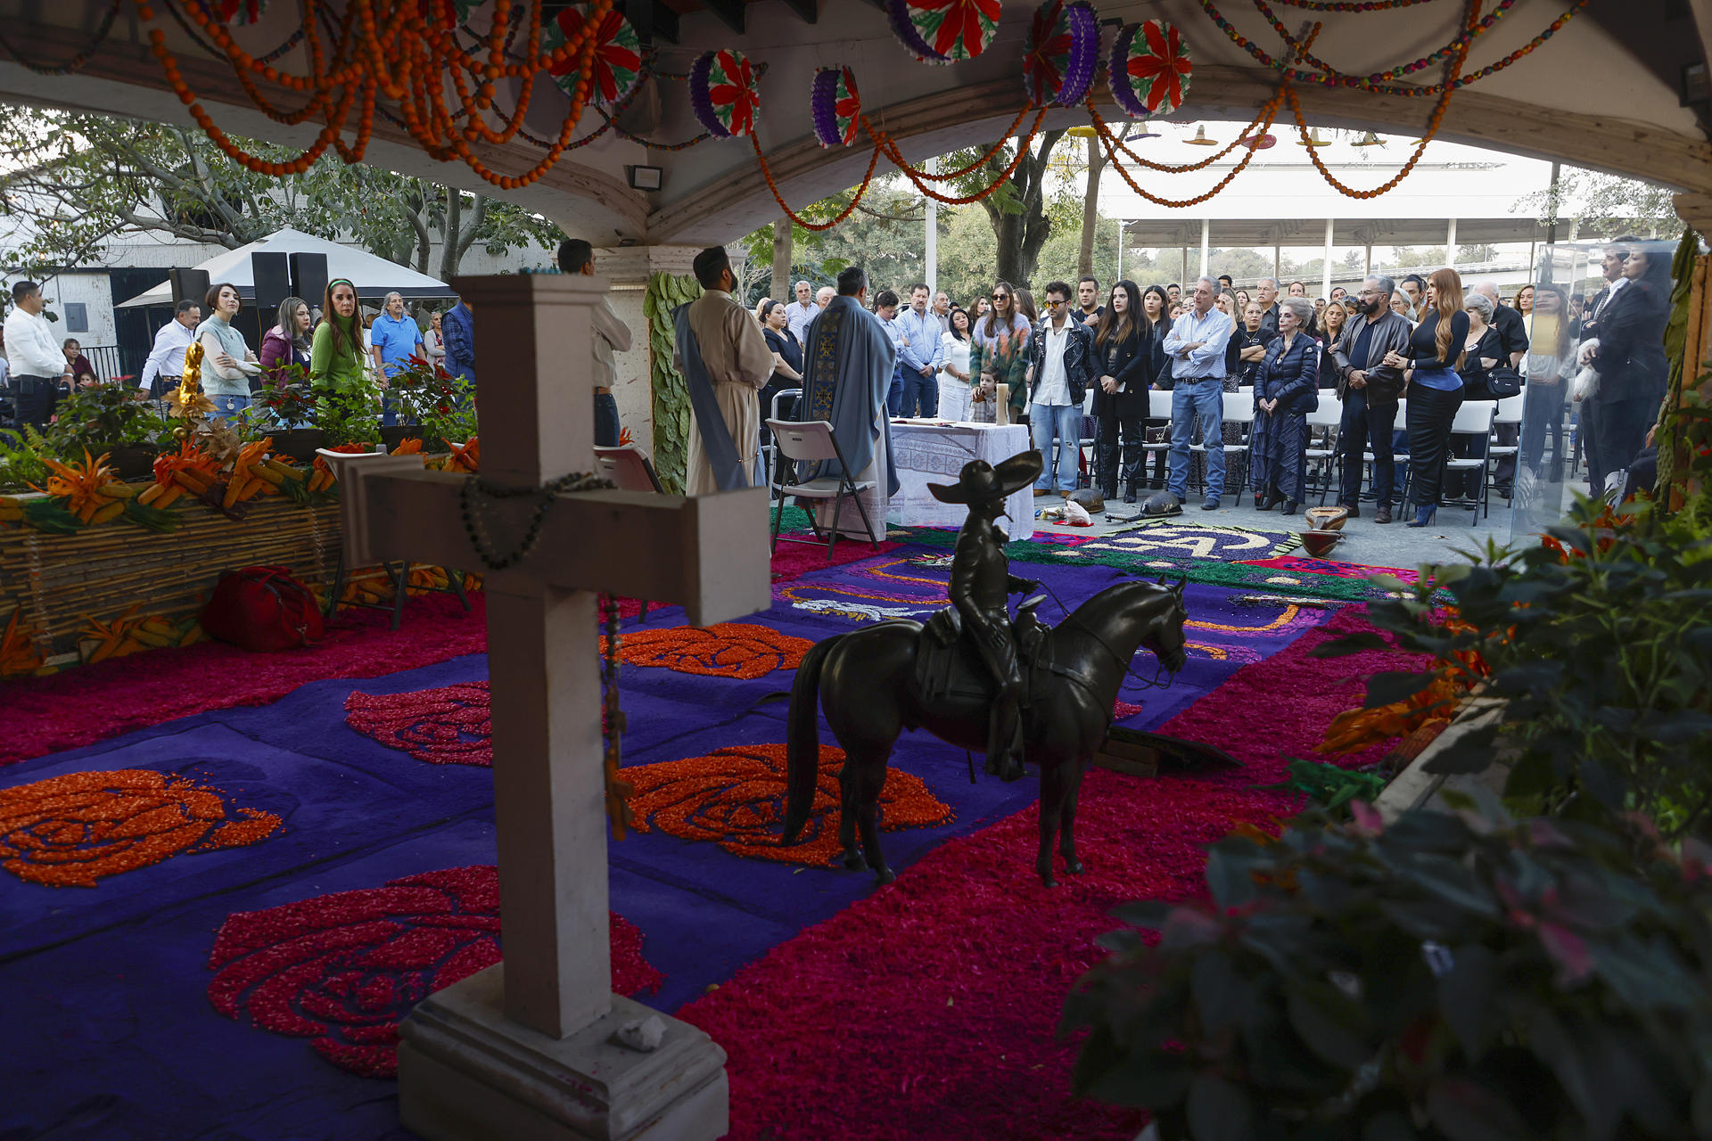
M 1173 381 L 1168 491 L 1178 503 L 1188 493 L 1190 433 L 1198 414 L 1200 440 L 1207 448 L 1207 498 L 1200 505 L 1204 511 L 1217 511 L 1224 494 L 1224 349 L 1236 332 L 1236 322 L 1212 308 L 1216 291 L 1210 277 L 1195 282 L 1195 304 L 1171 322 L 1164 346 Z

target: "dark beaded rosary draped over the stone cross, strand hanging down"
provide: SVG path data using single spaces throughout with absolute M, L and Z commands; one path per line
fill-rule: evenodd
M 524 561 L 531 551 L 534 551 L 536 544 L 541 541 L 541 525 L 546 522 L 546 513 L 548 508 L 553 506 L 553 500 L 574 491 L 596 491 L 615 486 L 616 484 L 613 484 L 613 481 L 591 472 L 570 472 L 568 476 L 560 476 L 558 479 L 539 488 L 502 488 L 498 484 L 486 482 L 481 476 L 469 476 L 464 479 L 464 488 L 459 491 L 459 510 L 464 517 L 464 530 L 469 534 L 469 544 L 476 549 L 476 558 L 481 559 L 484 568 L 496 571 L 515 566 Z M 490 500 L 520 500 L 524 496 L 536 496 L 529 527 L 524 530 L 524 537 L 514 551 L 500 554 L 493 546 L 491 535 L 488 534 L 488 518 L 484 517 L 486 503 Z M 635 785 L 618 777 L 625 713 L 618 703 L 620 635 L 616 595 L 601 595 L 601 616 L 606 628 L 604 636 L 599 640 L 601 772 L 606 782 L 606 819 L 611 823 L 613 837 L 623 840 L 627 830 L 635 819 L 635 814 L 630 809 L 630 795 L 635 792 Z

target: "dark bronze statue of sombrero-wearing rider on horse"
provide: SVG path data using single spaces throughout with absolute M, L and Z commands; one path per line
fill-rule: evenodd
M 1022 775 L 1020 763 L 1041 770 L 1041 883 L 1055 886 L 1053 840 L 1072 874 L 1075 806 L 1082 772 L 1111 729 L 1118 686 L 1140 648 L 1176 672 L 1186 662 L 1183 582 L 1123 582 L 1068 612 L 1056 628 L 1024 602 L 1010 618 L 1010 595 L 1039 583 L 1010 575 L 998 518 L 1005 498 L 1041 474 L 1039 452 L 1024 452 L 996 467 L 966 464 L 955 484 L 931 484 L 945 503 L 964 503 L 969 518 L 952 556 L 952 606 L 926 624 L 892 619 L 835 635 L 815 645 L 791 688 L 789 785 L 784 843 L 808 823 L 820 756 L 818 712 L 846 753 L 839 773 L 839 840 L 844 866 L 865 857 L 880 883 L 894 879 L 880 852 L 877 804 L 887 760 L 906 729 L 988 758 L 988 772 Z M 856 837 L 861 835 L 861 847 Z

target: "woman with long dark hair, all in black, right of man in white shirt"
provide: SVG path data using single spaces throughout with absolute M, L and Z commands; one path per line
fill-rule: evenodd
M 1154 383 L 1154 327 L 1142 311 L 1142 293 L 1133 281 L 1111 287 L 1106 311 L 1094 328 L 1094 470 L 1101 494 L 1118 498 L 1118 436 L 1123 440 L 1123 501 L 1135 503 L 1142 481 L 1142 423 L 1147 392 Z

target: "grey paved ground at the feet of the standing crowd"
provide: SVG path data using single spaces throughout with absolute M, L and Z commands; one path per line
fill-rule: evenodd
M 1572 484 L 1582 494 L 1587 493 L 1585 482 Z M 1565 494 L 1568 500 L 1568 494 Z M 1036 508 L 1049 506 L 1056 500 L 1037 498 Z M 1310 505 L 1317 503 L 1318 496 L 1310 500 Z M 1294 517 L 1281 517 L 1277 508 L 1270 511 L 1257 511 L 1253 506 L 1253 494 L 1243 493 L 1243 503 L 1236 503 L 1226 496 L 1224 505 L 1217 511 L 1200 510 L 1202 496 L 1198 493 L 1190 493 L 1188 501 L 1183 505 L 1183 515 L 1180 517 L 1186 523 L 1195 522 L 1219 522 L 1234 523 L 1238 527 L 1257 527 L 1265 530 L 1281 530 L 1286 525 L 1291 530 L 1306 530 L 1308 523 L 1303 520 L 1301 513 Z M 1034 520 L 1036 530 L 1056 530 L 1063 534 L 1106 534 L 1130 522 L 1128 517 L 1138 513 L 1138 505 L 1111 503 L 1108 505 L 1106 515 L 1094 517 L 1094 527 L 1061 527 L 1056 523 L 1044 523 L 1039 518 Z M 1121 518 L 1121 522 L 1113 522 L 1111 517 Z M 1491 515 L 1476 518 L 1472 511 L 1465 508 L 1442 506 L 1438 517 L 1430 527 L 1404 527 L 1402 518 L 1397 522 L 1378 525 L 1373 522 L 1373 505 L 1361 505 L 1361 518 L 1352 518 L 1344 523 L 1346 539 L 1339 542 L 1332 553 L 1327 556 L 1335 561 L 1352 563 L 1358 566 L 1406 566 L 1412 568 L 1421 563 L 1453 563 L 1460 561 L 1457 551 L 1474 551 L 1483 549 L 1488 539 L 1498 544 L 1512 542 L 1512 520 L 1510 505 L 1491 496 Z M 1520 539 L 1520 537 L 1519 537 Z M 1298 551 L 1305 554 L 1305 551 Z

